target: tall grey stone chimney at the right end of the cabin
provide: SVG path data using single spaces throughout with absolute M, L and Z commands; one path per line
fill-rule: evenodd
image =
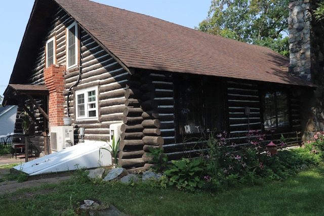
M 289 3 L 289 71 L 317 86 L 302 99 L 302 126 L 304 136 L 308 134 L 308 137 L 312 132 L 324 131 L 324 21 L 312 17 L 312 11 L 320 2 L 290 0 Z

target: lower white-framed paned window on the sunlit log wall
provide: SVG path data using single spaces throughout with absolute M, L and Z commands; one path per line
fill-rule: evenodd
M 75 91 L 76 119 L 98 119 L 98 88 Z

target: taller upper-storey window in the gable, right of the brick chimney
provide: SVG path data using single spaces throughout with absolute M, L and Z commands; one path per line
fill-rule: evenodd
M 67 27 L 66 35 L 66 65 L 71 68 L 77 65 L 77 25 L 76 22 Z

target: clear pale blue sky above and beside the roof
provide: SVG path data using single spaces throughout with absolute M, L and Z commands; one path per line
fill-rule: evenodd
M 94 0 L 189 28 L 198 26 L 207 15 L 211 0 Z M 0 95 L 9 83 L 34 0 L 2 2 L 0 13 Z

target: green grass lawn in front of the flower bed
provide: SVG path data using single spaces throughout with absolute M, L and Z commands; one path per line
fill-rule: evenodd
M 84 199 L 111 203 L 128 215 L 324 215 L 323 164 L 283 182 L 214 194 L 82 180 L 0 195 L 0 215 L 74 215 L 71 206 L 75 210 Z

